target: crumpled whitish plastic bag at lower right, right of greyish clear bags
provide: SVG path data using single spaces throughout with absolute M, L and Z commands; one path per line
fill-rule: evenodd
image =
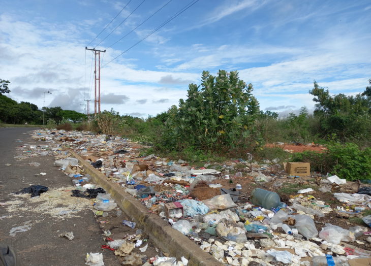
M 331 244 L 339 244 L 342 241 L 354 242 L 355 237 L 351 231 L 330 223 L 325 223 L 325 225 L 319 234 L 321 239 Z

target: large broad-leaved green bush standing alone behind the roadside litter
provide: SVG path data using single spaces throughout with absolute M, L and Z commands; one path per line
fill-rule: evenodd
M 251 94 L 253 86 L 233 71 L 220 70 L 216 77 L 204 71 L 201 79 L 201 88 L 190 84 L 187 99 L 169 110 L 159 146 L 177 151 L 194 146 L 214 152 L 258 147 L 261 139 L 254 115 L 259 105 Z

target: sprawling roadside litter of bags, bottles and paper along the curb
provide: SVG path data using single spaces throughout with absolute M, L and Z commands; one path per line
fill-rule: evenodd
M 138 157 L 136 145 L 128 140 L 90 132 L 38 130 L 34 139 L 49 142 L 48 149 L 57 158 L 55 166 L 72 178 L 77 196 L 90 197 L 97 188 L 88 183 L 90 177 L 78 161 L 71 158 L 67 148 L 77 151 L 107 179 L 118 183 L 125 192 L 222 263 L 327 265 L 334 261 L 355 265 L 359 260 L 371 261 L 368 251 L 371 215 L 362 216 L 363 225 L 348 226 L 348 229 L 331 224 L 331 218 L 326 219 L 333 215 L 360 217 L 371 209 L 370 189 L 360 187 L 359 183 L 357 189 L 350 188 L 349 193 L 345 193 L 341 189 L 353 184 L 336 176 L 315 176 L 319 191 L 333 194 L 338 201 L 335 208 L 311 194 L 316 192 L 312 188 L 300 189 L 284 203 L 279 194 L 267 189 L 256 187 L 246 197 L 238 184 L 232 189 L 223 187 L 221 181 L 232 178 L 228 172 L 233 170 L 233 164 L 223 165 L 228 172 L 222 174 L 215 167 L 208 168 L 212 165 L 195 169 L 183 160 L 174 162 L 155 155 Z M 276 174 L 264 172 L 268 168 L 265 164 L 251 169 L 255 171 L 254 184 L 274 182 L 273 187 L 283 186 Z M 244 175 L 237 172 L 233 176 L 243 178 Z M 107 193 L 97 193 L 96 214 L 103 215 L 116 207 Z M 358 240 L 361 237 L 363 240 Z M 116 255 L 130 255 L 128 260 L 139 263 L 141 255 L 132 254 L 131 250 L 141 240 L 140 234 L 128 238 L 119 243 L 108 240 L 107 245 Z M 364 249 L 360 248 L 362 245 Z M 146 263 L 186 265 L 185 258 L 176 262 L 175 258 L 168 257 L 157 257 Z

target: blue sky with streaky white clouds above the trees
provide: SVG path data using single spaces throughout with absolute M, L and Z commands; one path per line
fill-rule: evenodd
M 370 0 L 194 2 L 0 0 L 7 95 L 40 109 L 45 95 L 45 106 L 79 112 L 91 99 L 94 112 L 93 52 L 85 47 L 106 50 L 101 110 L 143 118 L 178 105 L 204 70 L 237 70 L 253 84 L 260 109 L 281 116 L 313 110 L 314 80 L 333 94 L 368 85 Z

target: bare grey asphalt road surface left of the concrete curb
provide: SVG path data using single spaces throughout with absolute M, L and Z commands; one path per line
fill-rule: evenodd
M 14 158 L 19 145 L 45 145 L 30 138 L 33 129 L 0 128 L 0 242 L 11 245 L 23 265 L 84 265 L 86 253 L 89 252 L 102 252 L 105 265 L 120 265 L 113 252 L 101 250 L 101 245 L 105 244 L 102 230 L 89 209 L 80 211 L 78 217 L 64 219 L 56 219 L 48 213 L 36 215 L 32 208 L 37 207 L 38 203 L 22 203 L 19 206 L 24 208 L 12 213 L 7 210 L 9 206 L 4 203 L 18 199 L 10 193 L 29 185 L 40 184 L 50 189 L 72 185 L 68 176 L 53 167 L 53 156 L 21 161 Z M 39 162 L 40 167 L 29 166 L 28 163 L 32 161 Z M 40 172 L 47 175 L 35 176 Z M 30 221 L 29 230 L 10 235 L 12 228 L 22 226 L 27 221 Z M 69 241 L 57 237 L 63 231 L 73 231 L 75 239 Z

